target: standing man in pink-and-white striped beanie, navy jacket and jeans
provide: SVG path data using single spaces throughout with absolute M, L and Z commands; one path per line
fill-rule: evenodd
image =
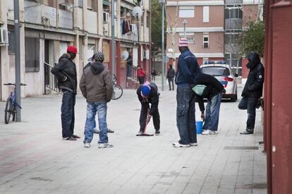
M 188 40 L 182 38 L 178 42 L 181 55 L 178 56 L 178 69 L 176 71 L 176 126 L 181 140 L 173 143 L 174 147 L 197 146 L 195 131 L 195 93 L 190 85 L 195 84 L 195 77 L 200 73 L 197 58 L 188 49 Z

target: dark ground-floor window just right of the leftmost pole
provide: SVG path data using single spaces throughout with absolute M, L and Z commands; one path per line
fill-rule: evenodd
M 39 72 L 39 39 L 25 37 L 25 72 Z

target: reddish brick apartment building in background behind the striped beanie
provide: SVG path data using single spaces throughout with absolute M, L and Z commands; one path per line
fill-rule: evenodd
M 178 58 L 178 40 L 186 37 L 200 65 L 204 61 L 224 60 L 224 8 L 223 0 L 167 1 L 167 56 Z

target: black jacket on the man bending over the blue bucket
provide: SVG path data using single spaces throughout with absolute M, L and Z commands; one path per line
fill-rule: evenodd
M 200 111 L 204 111 L 204 102 L 203 99 L 207 98 L 209 100 L 212 99 L 215 95 L 218 95 L 220 92 L 224 91 L 223 85 L 214 78 L 212 75 L 207 75 L 205 73 L 199 73 L 197 74 L 197 77 L 195 78 L 195 82 L 197 85 L 206 85 L 205 90 L 202 94 L 202 96 L 196 95 L 196 100 L 199 102 Z

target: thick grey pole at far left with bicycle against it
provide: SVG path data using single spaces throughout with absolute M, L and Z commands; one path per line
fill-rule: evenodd
M 14 0 L 14 34 L 16 44 L 16 121 L 21 121 L 21 90 L 20 90 L 20 28 L 19 28 L 19 0 Z

